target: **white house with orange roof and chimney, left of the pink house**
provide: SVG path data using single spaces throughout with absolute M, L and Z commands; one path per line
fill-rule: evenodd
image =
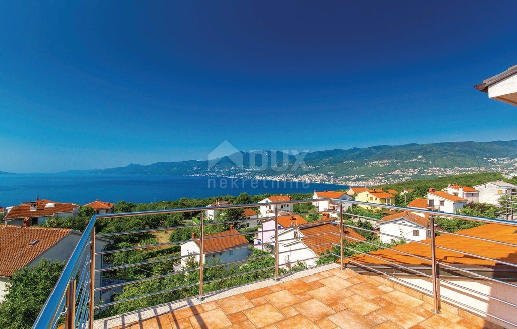
M 219 233 L 208 234 L 203 238 L 203 263 L 224 264 L 230 262 L 246 262 L 248 258 L 249 241 L 230 225 L 230 229 Z M 240 248 L 239 248 L 240 247 Z M 192 232 L 192 239 L 181 244 L 181 256 L 193 255 L 196 262 L 200 261 L 200 241 Z M 187 265 L 186 257 L 181 258 L 181 267 Z

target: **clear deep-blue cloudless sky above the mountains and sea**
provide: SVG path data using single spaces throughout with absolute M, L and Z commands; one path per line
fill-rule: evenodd
M 45 3 L 45 4 L 42 4 Z M 50 4 L 52 3 L 52 4 Z M 517 139 L 515 1 L 0 4 L 0 170 Z

